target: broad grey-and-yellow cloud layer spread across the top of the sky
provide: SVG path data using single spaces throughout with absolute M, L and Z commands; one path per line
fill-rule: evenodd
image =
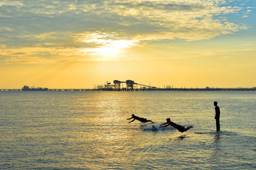
M 242 10 L 238 4 L 225 0 L 3 0 L 0 2 L 0 43 L 7 48 L 68 47 L 78 52 L 81 48 L 89 51 L 103 47 L 99 44 L 100 38 L 102 42 L 113 43 L 118 40 L 208 40 L 247 29 L 229 21 L 228 15 L 239 15 Z M 240 13 L 242 17 L 247 15 Z M 94 42 L 79 38 L 93 33 L 101 37 Z

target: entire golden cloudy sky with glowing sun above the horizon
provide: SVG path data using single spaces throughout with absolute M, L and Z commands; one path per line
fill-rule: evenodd
M 1 0 L 0 89 L 256 86 L 255 0 Z

